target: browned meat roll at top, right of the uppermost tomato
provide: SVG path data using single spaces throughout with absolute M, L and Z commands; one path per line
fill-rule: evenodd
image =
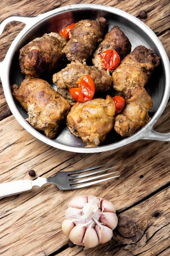
M 92 55 L 96 45 L 102 41 L 107 26 L 108 23 L 103 17 L 77 22 L 71 30 L 70 40 L 64 47 L 68 60 L 86 61 Z

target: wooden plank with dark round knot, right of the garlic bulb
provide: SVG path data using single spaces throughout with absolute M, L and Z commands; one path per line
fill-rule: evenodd
M 170 188 L 118 215 L 118 228 L 113 239 L 94 249 L 82 250 L 75 246 L 58 256 L 157 256 L 168 255 L 170 244 L 170 207 L 167 201 Z M 167 248 L 167 250 L 166 250 Z M 161 253 L 164 250 L 164 253 Z

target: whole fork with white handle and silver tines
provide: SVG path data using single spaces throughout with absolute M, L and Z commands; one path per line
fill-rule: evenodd
M 115 163 L 115 162 L 113 162 L 113 163 Z M 96 179 L 105 177 L 107 175 L 111 175 L 118 171 L 110 172 L 110 173 L 103 174 L 103 175 L 96 175 L 94 177 L 88 177 L 88 176 L 98 174 L 99 172 L 105 172 L 107 170 L 116 168 L 117 166 L 112 166 L 110 168 L 97 170 L 94 172 L 88 172 L 88 171 L 99 169 L 101 167 L 108 166 L 113 163 L 106 163 L 103 165 L 99 165 L 99 166 L 95 166 L 95 167 L 91 167 L 91 168 L 87 168 L 87 169 L 83 169 L 83 170 L 78 170 L 78 171 L 57 172 L 56 175 L 49 177 L 49 178 L 38 177 L 35 180 L 17 180 L 17 181 L 11 181 L 8 183 L 3 183 L 3 184 L 0 184 L 0 198 L 29 191 L 32 189 L 33 186 L 42 187 L 44 184 L 47 184 L 47 183 L 56 185 L 60 190 L 68 190 L 68 189 L 79 189 L 82 187 L 91 186 L 91 185 L 103 182 L 105 180 L 111 180 L 113 178 L 119 177 L 120 175 L 104 178 L 102 180 L 96 180 Z M 88 173 L 77 175 L 82 172 L 88 172 Z M 88 178 L 86 178 L 86 177 L 88 177 Z M 80 180 L 77 180 L 79 178 L 80 178 Z M 84 178 L 84 179 L 82 179 L 82 178 Z M 88 182 L 90 180 L 95 180 L 95 181 Z

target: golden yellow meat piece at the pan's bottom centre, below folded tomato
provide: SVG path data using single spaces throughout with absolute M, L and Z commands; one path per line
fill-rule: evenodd
M 111 96 L 77 102 L 67 116 L 67 127 L 81 137 L 88 147 L 96 147 L 105 140 L 114 125 L 115 103 Z

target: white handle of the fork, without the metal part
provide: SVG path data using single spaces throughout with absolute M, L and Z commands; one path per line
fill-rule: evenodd
M 17 180 L 0 184 L 0 198 L 32 189 L 31 180 Z

